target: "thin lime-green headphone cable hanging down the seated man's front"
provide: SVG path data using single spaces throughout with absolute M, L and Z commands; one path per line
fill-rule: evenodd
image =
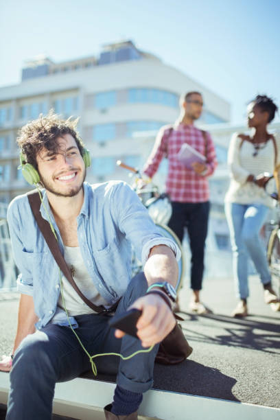
M 38 188 L 38 184 L 36 184 L 36 188 L 38 189 L 40 200 L 41 200 L 42 205 L 43 205 L 43 207 L 45 209 L 45 212 L 47 213 L 47 218 L 49 220 L 49 226 L 51 226 L 51 231 L 54 233 L 54 236 L 56 237 L 56 240 L 58 241 L 58 237 L 56 236 L 56 231 L 54 230 L 54 226 L 51 223 L 51 218 L 49 216 L 49 212 L 47 211 L 47 207 L 45 207 L 45 204 L 43 202 L 42 194 L 40 192 L 40 189 Z M 59 275 L 59 282 L 60 282 L 60 292 L 61 292 L 61 297 L 62 297 L 62 304 L 63 304 L 63 308 L 65 310 L 65 314 L 67 316 L 67 320 L 68 320 L 69 326 L 70 326 L 71 330 L 73 331 L 73 333 L 75 334 L 75 337 L 77 338 L 78 342 L 80 343 L 82 349 L 84 350 L 84 352 L 86 353 L 86 355 L 89 357 L 89 361 L 91 362 L 91 369 L 93 371 L 93 375 L 97 376 L 97 367 L 96 367 L 95 362 L 93 362 L 93 359 L 94 358 L 98 358 L 98 357 L 100 357 L 102 355 L 116 355 L 116 356 L 119 356 L 119 358 L 121 358 L 122 360 L 128 360 L 128 359 L 133 358 L 135 355 L 137 355 L 139 353 L 149 353 L 150 351 L 152 351 L 152 349 L 154 348 L 154 345 L 152 345 L 151 347 L 149 347 L 146 350 L 137 350 L 137 351 L 135 351 L 135 353 L 132 353 L 132 354 L 130 354 L 128 356 L 123 356 L 120 353 L 100 353 L 100 354 L 90 355 L 89 354 L 89 351 L 86 350 L 86 348 L 82 344 L 82 341 L 80 340 L 80 337 L 78 336 L 78 334 L 75 332 L 75 329 L 73 329 L 73 327 L 71 325 L 71 321 L 69 319 L 69 314 L 67 312 L 66 305 L 65 305 L 65 297 L 64 297 L 64 294 L 63 294 L 63 284 L 62 284 L 62 279 L 61 279 L 61 270 L 60 270 L 59 267 L 58 267 L 58 275 Z

